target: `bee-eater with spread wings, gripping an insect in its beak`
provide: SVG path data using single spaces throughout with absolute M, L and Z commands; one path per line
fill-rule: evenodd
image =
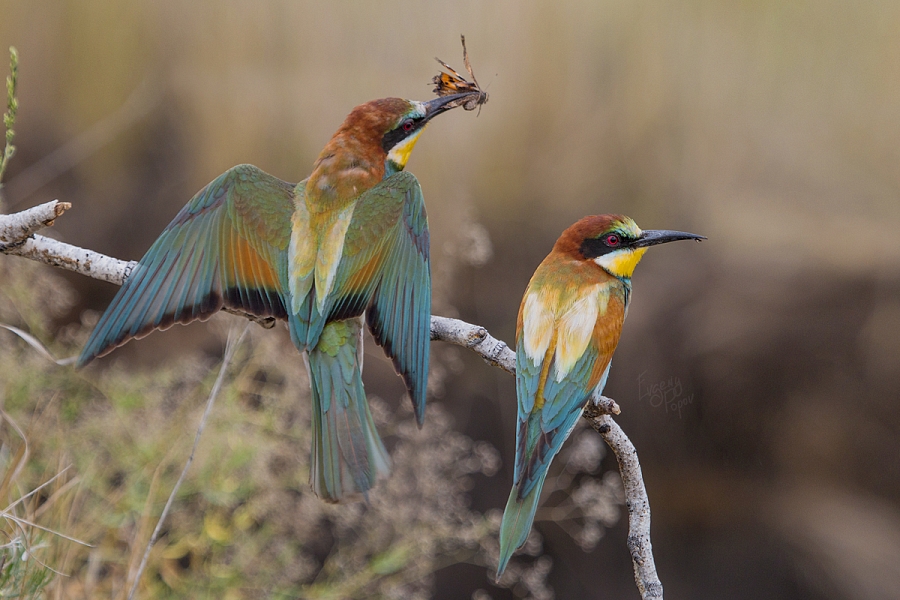
M 403 168 L 428 122 L 469 95 L 357 106 L 298 184 L 251 165 L 220 175 L 139 261 L 78 366 L 222 308 L 286 320 L 312 388 L 313 490 L 328 501 L 365 494 L 390 463 L 363 390 L 364 322 L 420 426 L 425 412 L 428 223 L 422 188 Z

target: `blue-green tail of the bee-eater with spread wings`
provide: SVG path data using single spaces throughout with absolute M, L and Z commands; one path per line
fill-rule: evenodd
M 309 351 L 313 400 L 310 485 L 337 502 L 372 488 L 390 472 L 362 385 L 362 322 L 329 323 Z

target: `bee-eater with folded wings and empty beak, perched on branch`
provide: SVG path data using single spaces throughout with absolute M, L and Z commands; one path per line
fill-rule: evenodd
M 550 462 L 606 385 L 635 266 L 650 246 L 702 239 L 596 215 L 566 229 L 538 266 L 516 325 L 516 462 L 500 524 L 498 579 L 528 537 Z

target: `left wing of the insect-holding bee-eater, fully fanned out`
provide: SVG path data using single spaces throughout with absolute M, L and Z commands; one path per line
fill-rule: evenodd
M 286 318 L 293 189 L 239 165 L 200 190 L 139 261 L 78 364 L 154 329 L 209 318 L 223 306 Z

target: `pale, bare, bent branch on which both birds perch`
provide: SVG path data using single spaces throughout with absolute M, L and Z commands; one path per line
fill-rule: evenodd
M 0 215 L 0 253 L 23 256 L 70 271 L 122 285 L 137 263 L 125 262 L 35 235 L 41 227 L 50 226 L 71 205 L 48 202 L 13 215 Z M 263 327 L 272 327 L 272 319 L 260 319 L 240 311 L 234 314 L 247 317 Z M 516 355 L 502 340 L 491 336 L 487 329 L 459 319 L 431 317 L 431 339 L 468 348 L 489 365 L 507 373 L 516 372 Z M 663 587 L 656 573 L 653 548 L 650 544 L 650 501 L 638 462 L 637 450 L 625 432 L 610 417 L 619 414 L 619 405 L 611 398 L 595 394 L 588 402 L 584 418 L 600 433 L 619 461 L 619 471 L 625 487 L 628 507 L 628 549 L 634 563 L 634 579 L 641 598 L 662 600 Z

